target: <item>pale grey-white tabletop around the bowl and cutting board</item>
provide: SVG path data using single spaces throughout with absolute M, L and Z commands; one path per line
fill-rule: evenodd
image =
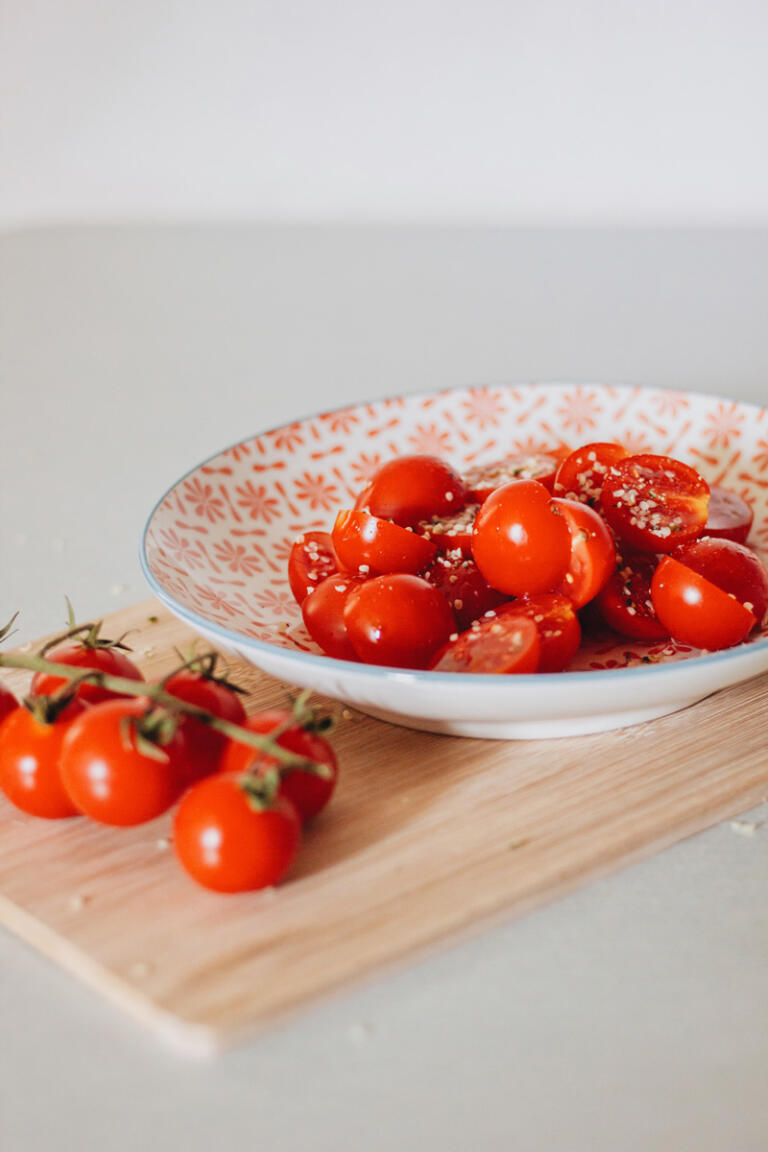
M 146 594 L 155 497 L 289 417 L 421 387 L 768 400 L 768 233 L 0 238 L 0 615 Z M 0 932 L 0 1147 L 765 1152 L 768 805 L 214 1063 Z

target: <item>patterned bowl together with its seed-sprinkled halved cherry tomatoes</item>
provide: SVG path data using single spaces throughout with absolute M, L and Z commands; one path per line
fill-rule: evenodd
M 768 668 L 767 468 L 766 411 L 694 393 L 390 397 L 182 477 L 143 563 L 218 645 L 373 714 L 594 732 Z

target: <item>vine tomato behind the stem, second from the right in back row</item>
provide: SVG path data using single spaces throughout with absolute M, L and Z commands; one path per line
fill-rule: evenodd
M 245 723 L 245 708 L 239 696 L 214 676 L 184 668 L 166 681 L 165 690 L 187 704 L 212 712 L 221 720 Z M 218 770 L 227 737 L 190 715 L 182 718 L 180 728 L 187 741 L 184 780 L 192 783 Z

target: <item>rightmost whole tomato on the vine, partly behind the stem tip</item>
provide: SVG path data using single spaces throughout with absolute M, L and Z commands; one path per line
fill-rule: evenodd
M 291 719 L 291 713 L 282 708 L 271 708 L 249 717 L 245 727 L 261 735 L 274 732 Z M 296 811 L 306 824 L 320 812 L 333 795 L 339 776 L 339 765 L 333 748 L 327 740 L 317 733 L 303 728 L 296 722 L 277 737 L 281 748 L 297 756 L 305 756 L 315 764 L 325 764 L 330 770 L 329 776 L 319 776 L 315 772 L 291 768 L 282 775 L 280 795 L 295 805 Z M 222 772 L 264 772 L 274 767 L 277 760 L 257 748 L 250 748 L 236 740 L 227 743 L 227 751 L 221 764 Z

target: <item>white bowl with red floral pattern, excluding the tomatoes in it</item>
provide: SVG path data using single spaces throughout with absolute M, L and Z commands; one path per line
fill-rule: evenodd
M 431 453 L 462 471 L 509 453 L 614 440 L 677 456 L 754 510 L 768 550 L 768 411 L 715 396 L 608 385 L 525 384 L 393 396 L 249 437 L 159 500 L 142 564 L 157 596 L 212 644 L 265 672 L 396 723 L 496 738 L 569 736 L 684 708 L 768 669 L 768 629 L 701 653 L 610 636 L 571 668 L 471 675 L 382 668 L 324 655 L 288 585 L 297 535 L 329 531 L 373 470 Z

